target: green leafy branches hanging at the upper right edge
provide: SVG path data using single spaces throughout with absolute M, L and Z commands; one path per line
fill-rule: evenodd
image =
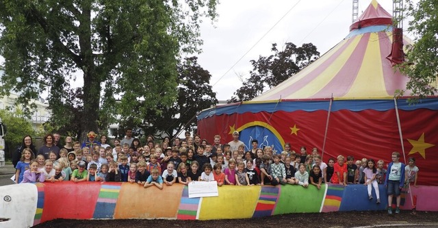
M 413 17 L 408 30 L 417 39 L 400 71 L 409 77 L 407 89 L 412 91 L 411 95 L 419 98 L 434 95 L 438 86 L 438 1 L 420 0 L 417 4 L 408 1 L 405 13 Z

